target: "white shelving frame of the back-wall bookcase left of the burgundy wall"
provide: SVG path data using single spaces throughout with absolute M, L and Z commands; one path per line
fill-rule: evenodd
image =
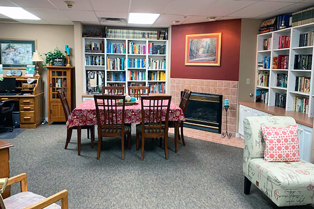
M 135 44 L 141 44 L 141 45 L 145 45 L 146 46 L 146 54 L 129 54 L 128 53 L 128 43 L 132 41 Z M 168 46 L 168 40 L 154 40 L 154 39 L 113 39 L 113 38 L 90 38 L 90 37 L 83 37 L 83 46 L 82 46 L 82 50 L 83 50 L 83 66 L 84 66 L 84 70 L 83 70 L 83 78 L 84 78 L 84 92 L 86 92 L 86 70 L 95 70 L 95 71 L 104 71 L 104 76 L 105 76 L 105 86 L 109 86 L 109 84 L 111 83 L 122 83 L 125 86 L 125 92 L 127 93 L 128 90 L 128 83 L 142 83 L 144 84 L 144 86 L 149 86 L 151 84 L 155 84 L 155 83 L 165 83 L 165 92 L 167 92 L 167 82 L 168 81 L 168 77 L 169 77 L 169 70 L 168 68 L 168 60 L 169 60 L 169 46 Z M 104 42 L 104 53 L 87 53 L 85 52 L 85 44 L 86 43 L 90 43 L 90 42 L 94 42 L 94 43 L 102 43 Z M 111 42 L 112 44 L 121 44 L 123 42 L 125 42 L 125 52 L 123 54 L 117 54 L 117 53 L 107 53 L 107 42 Z M 150 55 L 149 54 L 149 48 L 148 48 L 148 44 L 149 43 L 153 43 L 156 45 L 165 45 L 166 46 L 166 53 L 165 55 Z M 87 55 L 100 55 L 103 56 L 105 58 L 105 65 L 86 65 L 85 62 L 85 57 Z M 115 59 L 117 57 L 123 57 L 125 58 L 125 70 L 123 70 L 125 72 L 125 81 L 107 81 L 107 72 L 123 72 L 122 70 L 107 70 L 107 57 L 111 58 L 111 59 Z M 128 67 L 128 59 L 129 58 L 140 58 L 140 59 L 145 59 L 145 68 L 129 68 Z M 149 58 L 153 58 L 154 60 L 164 60 L 165 59 L 165 69 L 149 69 L 148 66 L 148 59 Z M 129 71 L 145 71 L 145 80 L 143 81 L 132 81 L 129 80 Z M 150 79 L 148 79 L 149 76 L 149 72 L 152 71 L 162 71 L 166 73 L 166 80 L 162 80 L 162 81 L 151 81 Z

